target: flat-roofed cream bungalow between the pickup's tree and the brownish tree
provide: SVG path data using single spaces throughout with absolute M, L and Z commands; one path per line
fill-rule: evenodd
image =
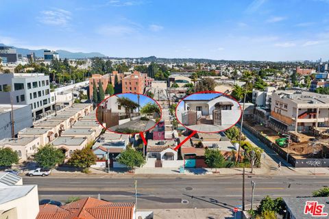
M 63 153 L 66 155 L 66 157 L 71 157 L 74 150 L 81 150 L 83 149 L 87 144 L 88 140 L 87 138 L 75 138 L 72 136 L 65 136 L 65 137 L 58 137 L 55 140 L 51 142 L 53 146 L 56 146 L 56 148 L 61 149 Z

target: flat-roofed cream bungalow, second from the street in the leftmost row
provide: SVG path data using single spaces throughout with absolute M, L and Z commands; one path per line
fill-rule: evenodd
M 23 138 L 23 137 L 28 137 L 28 138 L 40 138 L 40 146 L 43 146 L 45 144 L 48 144 L 51 142 L 55 137 L 54 137 L 54 128 L 25 128 L 19 131 L 17 137 L 18 138 Z

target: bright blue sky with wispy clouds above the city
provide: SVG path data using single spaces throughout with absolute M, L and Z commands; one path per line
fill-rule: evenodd
M 329 59 L 329 0 L 0 0 L 0 43 L 110 57 Z

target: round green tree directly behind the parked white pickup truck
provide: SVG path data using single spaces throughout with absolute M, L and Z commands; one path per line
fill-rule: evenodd
M 52 144 L 46 144 L 38 148 L 34 155 L 34 161 L 43 168 L 53 168 L 64 162 L 65 155 L 62 150 L 56 149 Z

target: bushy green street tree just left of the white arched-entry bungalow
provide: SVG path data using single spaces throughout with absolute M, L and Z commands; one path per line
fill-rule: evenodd
M 124 164 L 125 166 L 127 166 L 127 168 L 130 169 L 141 167 L 143 166 L 143 164 L 145 164 L 143 154 L 129 147 L 125 149 L 125 151 L 121 152 L 117 161 L 120 164 Z

